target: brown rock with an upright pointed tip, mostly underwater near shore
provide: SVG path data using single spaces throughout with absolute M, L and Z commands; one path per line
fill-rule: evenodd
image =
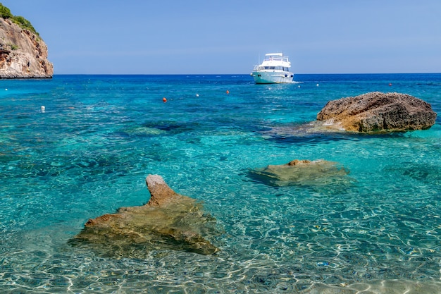
M 201 203 L 173 191 L 161 176 L 149 175 L 146 183 L 151 194 L 147 204 L 89 219 L 70 243 L 116 257 L 140 257 L 162 249 L 204 255 L 218 251 L 202 237 L 215 231 L 216 220 L 201 211 Z

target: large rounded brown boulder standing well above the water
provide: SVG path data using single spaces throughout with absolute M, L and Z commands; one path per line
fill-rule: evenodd
M 355 132 L 424 130 L 437 114 L 427 102 L 400 93 L 371 92 L 328 102 L 317 114 L 325 125 Z

